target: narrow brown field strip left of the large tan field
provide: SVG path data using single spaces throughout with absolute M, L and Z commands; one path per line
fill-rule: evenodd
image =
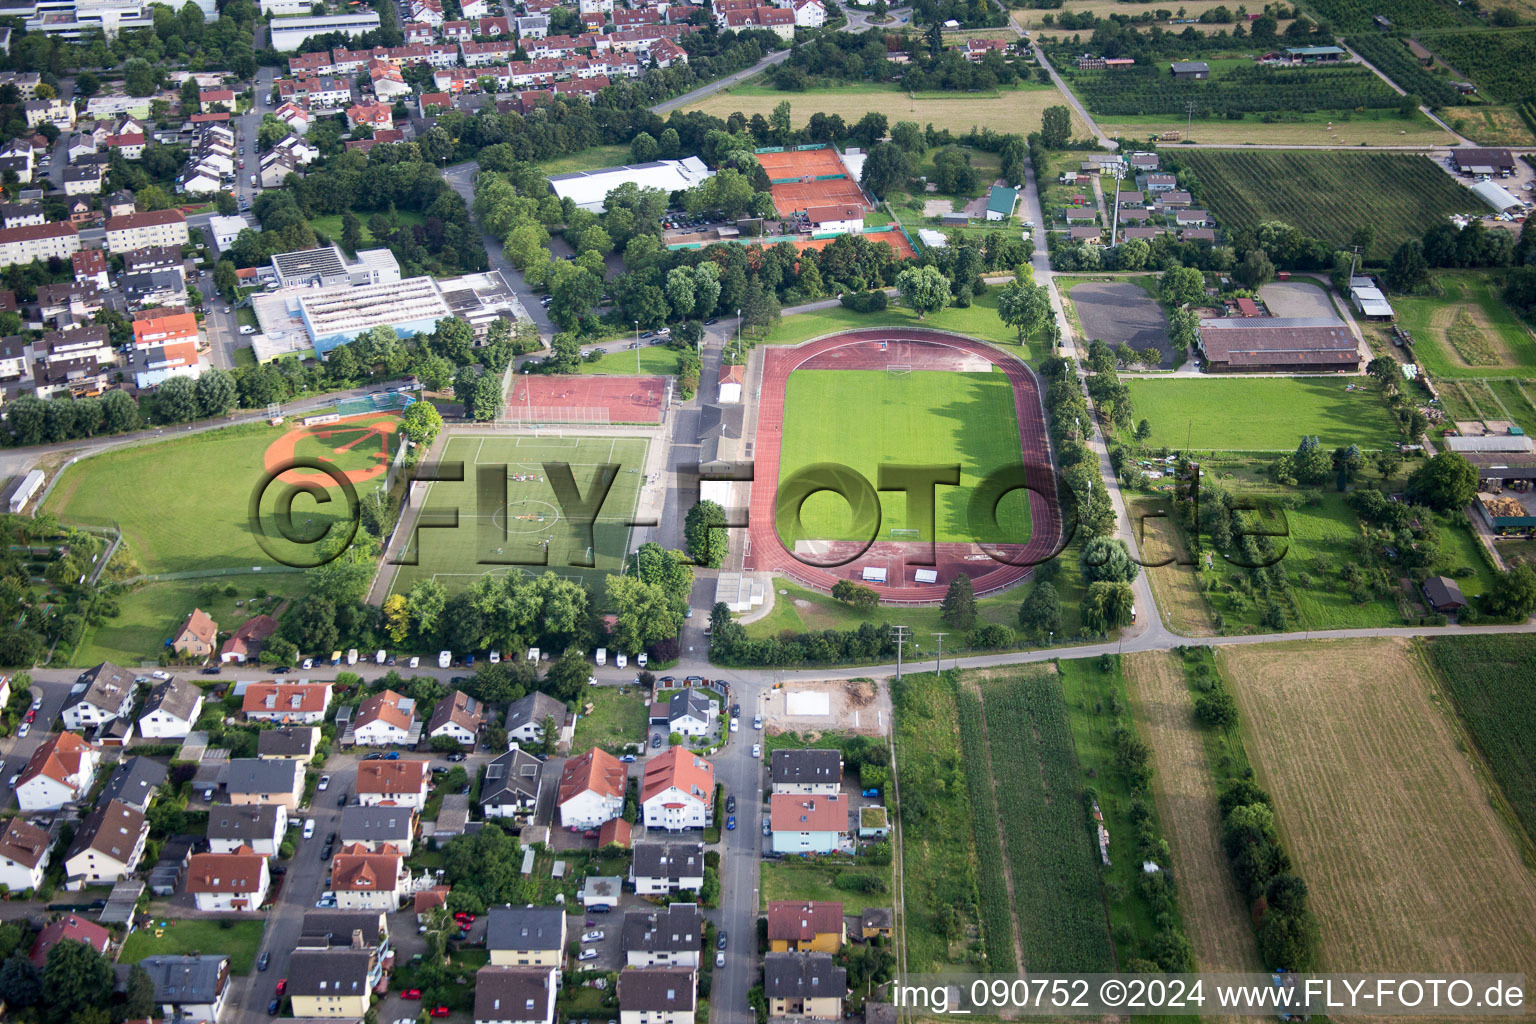
M 1184 669 L 1172 651 L 1124 659 L 1130 714 L 1152 748 L 1152 791 L 1174 854 L 1178 907 L 1200 970 L 1263 970 L 1232 869 L 1221 849 L 1221 812 L 1192 718 Z

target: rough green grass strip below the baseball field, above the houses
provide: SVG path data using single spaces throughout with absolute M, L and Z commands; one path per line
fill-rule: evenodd
M 207 583 L 218 588 L 218 596 L 214 600 L 204 600 L 198 593 Z M 238 596 L 226 597 L 226 586 L 233 586 Z M 275 602 L 257 602 L 255 611 L 250 608 L 258 586 L 264 586 L 269 596 L 276 596 L 280 600 L 284 597 L 296 599 L 304 594 L 304 574 L 249 573 L 146 583 L 118 597 L 120 614 L 115 619 L 108 619 L 95 628 L 86 628 L 86 637 L 71 663 L 78 666 L 97 665 L 98 662 L 137 665 L 146 659 L 154 660 L 160 657 L 166 640 L 175 634 L 194 608 L 201 608 L 212 616 L 220 629 L 233 629 L 257 611 L 272 611 L 276 606 Z M 243 600 L 246 605 L 235 608 L 237 600 Z

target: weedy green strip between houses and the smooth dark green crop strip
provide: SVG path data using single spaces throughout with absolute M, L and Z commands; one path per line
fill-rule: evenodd
M 978 923 L 969 788 L 952 785 L 966 765 L 955 686 L 954 672 L 909 672 L 891 686 L 903 930 L 908 967 L 919 972 L 968 967 L 966 932 Z

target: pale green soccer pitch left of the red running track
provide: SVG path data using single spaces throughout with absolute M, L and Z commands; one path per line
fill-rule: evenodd
M 485 573 L 550 571 L 581 576 L 588 583 L 616 573 L 630 548 L 630 520 L 645 479 L 648 441 L 642 438 L 449 438 L 439 464 L 462 462 L 464 481 L 425 485 L 416 499 L 421 520 L 393 567 L 392 593 L 407 593 L 419 579 L 436 579 L 449 591 L 464 590 Z M 547 462 L 570 465 L 582 499 L 604 467 L 614 467 L 611 487 L 588 531 L 561 513 Z M 505 467 L 498 473 L 498 467 Z M 521 477 L 521 479 L 519 479 Z M 456 528 L 421 528 L 458 510 Z M 547 547 L 545 547 L 547 545 Z M 590 556 L 588 556 L 590 548 Z M 578 565 L 591 560 L 591 568 Z

